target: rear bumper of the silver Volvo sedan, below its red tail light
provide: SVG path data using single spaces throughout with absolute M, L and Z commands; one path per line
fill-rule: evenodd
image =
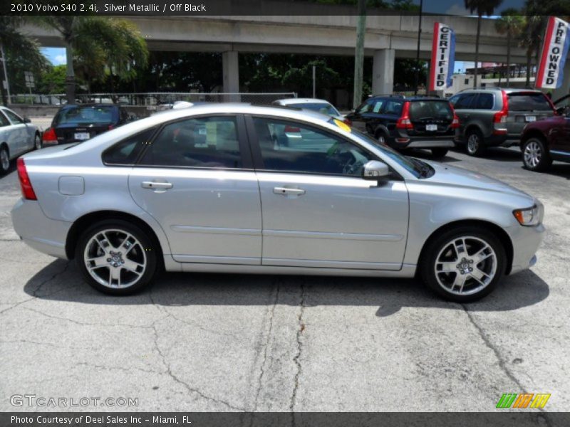
M 48 218 L 37 201 L 20 199 L 11 211 L 14 230 L 31 248 L 67 259 L 66 238 L 70 222 Z

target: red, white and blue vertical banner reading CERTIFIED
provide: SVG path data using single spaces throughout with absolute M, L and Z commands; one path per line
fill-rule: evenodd
M 444 90 L 451 86 L 455 66 L 455 32 L 444 23 L 433 23 L 432 62 L 428 90 Z

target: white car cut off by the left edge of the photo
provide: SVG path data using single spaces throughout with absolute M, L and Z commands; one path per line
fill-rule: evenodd
M 0 174 L 10 169 L 16 157 L 41 148 L 40 131 L 27 117 L 21 117 L 6 107 L 0 107 Z

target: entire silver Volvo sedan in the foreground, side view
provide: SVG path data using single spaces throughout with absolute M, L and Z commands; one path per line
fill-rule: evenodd
M 204 105 L 26 154 L 28 245 L 127 294 L 167 271 L 411 278 L 487 295 L 528 268 L 543 206 L 477 172 L 404 157 L 312 112 Z

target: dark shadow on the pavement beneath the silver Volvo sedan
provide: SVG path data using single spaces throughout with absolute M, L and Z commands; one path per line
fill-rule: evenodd
M 509 311 L 537 304 L 549 286 L 532 270 L 507 276 L 491 295 L 470 304 L 441 300 L 418 280 L 301 275 L 162 273 L 138 294 L 103 295 L 87 285 L 75 263 L 55 260 L 24 286 L 33 297 L 95 305 L 304 305 L 372 306 L 388 317 L 408 307 L 477 312 Z M 65 310 L 62 304 L 61 310 Z

